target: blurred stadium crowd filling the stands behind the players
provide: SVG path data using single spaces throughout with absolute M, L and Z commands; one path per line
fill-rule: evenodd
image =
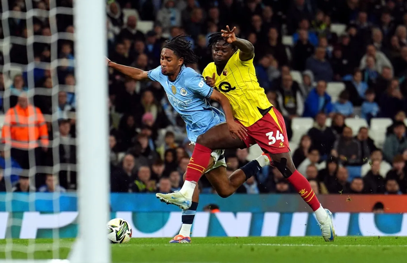
M 33 4 L 49 10 L 49 1 L 33 0 Z M 57 0 L 57 5 L 72 7 L 72 0 Z M 9 0 L 9 7 L 26 11 L 21 0 Z M 136 9 L 138 15 L 125 17 L 124 9 Z M 226 25 L 236 26 L 237 35 L 255 47 L 258 81 L 284 115 L 288 139 L 294 118 L 315 119 L 296 142 L 299 147 L 292 149 L 298 171 L 308 178 L 315 193 L 407 193 L 407 1 L 109 0 L 106 10 L 109 58 L 142 70 L 159 66 L 164 41 L 184 34 L 201 57 L 198 64 L 187 66 L 202 72 L 212 61 L 208 35 Z M 143 33 L 137 29 L 139 20 L 153 20 L 154 26 Z M 51 30 L 55 26 L 43 17 L 34 17 L 33 28 L 28 30 L 23 19 L 8 21 L 9 34 L 23 39 L 56 33 Z M 56 21 L 54 31 L 74 32 L 72 15 L 59 14 Z M 330 30 L 333 23 L 346 24 L 344 33 Z M 292 45 L 283 44 L 285 35 L 292 36 Z M 26 65 L 30 48 L 35 61 L 51 61 L 50 44 L 35 42 L 28 47 L 13 44 L 10 61 Z M 11 85 L 5 81 L 11 76 L 0 78 L 1 106 L 6 114 L 0 167 L 4 169 L 5 159 L 11 156 L 13 191 L 76 189 L 72 39 L 60 39 L 57 48 L 62 66 L 35 68 L 34 82 L 31 72 L 24 70 L 13 76 Z M 3 54 L 2 64 L 7 62 L 5 58 Z M 302 72 L 300 81 L 293 79 L 293 70 Z M 333 81 L 345 85 L 337 101 L 326 91 Z M 27 100 L 28 83 L 35 83 L 35 90 L 42 92 L 35 91 Z M 52 92 L 57 85 L 59 92 Z M 50 118 L 55 115 L 57 121 Z M 35 125 L 28 125 L 30 116 Z M 356 131 L 346 126 L 345 119 L 355 116 L 367 123 L 376 117 L 392 118 L 382 149 L 369 137 L 369 127 L 361 127 L 353 136 Z M 332 119 L 329 125 L 327 118 Z M 193 145 L 159 83 L 141 83 L 110 68 L 109 121 L 112 192 L 179 190 Z M 38 142 L 24 145 L 30 132 L 35 132 Z M 56 146 L 50 144 L 53 138 L 58 139 Z M 246 164 L 248 154 L 247 149 L 227 151 L 228 173 Z M 52 167 L 57 163 L 64 165 L 54 173 Z M 45 168 L 37 169 L 36 180 L 30 180 L 25 174 L 30 167 Z M 0 191 L 5 191 L 4 172 L 0 174 Z M 201 192 L 214 191 L 204 177 L 201 180 Z M 237 193 L 293 193 L 293 189 L 277 169 L 266 167 Z

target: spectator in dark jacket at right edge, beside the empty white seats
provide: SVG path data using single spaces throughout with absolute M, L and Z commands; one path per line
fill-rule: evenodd
M 394 134 L 386 137 L 383 145 L 383 156 L 387 162 L 392 162 L 394 156 L 402 154 L 407 149 L 406 128 L 403 122 L 394 123 Z

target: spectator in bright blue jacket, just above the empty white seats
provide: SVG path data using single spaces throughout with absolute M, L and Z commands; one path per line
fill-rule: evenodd
M 318 112 L 330 114 L 333 110 L 331 97 L 326 93 L 326 81 L 318 81 L 317 87 L 309 92 L 304 105 L 304 117 L 314 118 Z

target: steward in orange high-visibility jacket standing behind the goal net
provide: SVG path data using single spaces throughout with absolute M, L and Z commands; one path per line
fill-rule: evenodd
M 2 142 L 5 151 L 9 151 L 6 156 L 14 158 L 25 169 L 25 176 L 28 169 L 36 171 L 44 164 L 44 154 L 48 151 L 48 127 L 41 111 L 28 103 L 26 94 L 21 94 L 17 105 L 6 112 Z M 34 162 L 30 161 L 30 156 L 34 157 Z M 35 180 L 35 185 L 44 183 L 42 176 L 36 176 Z

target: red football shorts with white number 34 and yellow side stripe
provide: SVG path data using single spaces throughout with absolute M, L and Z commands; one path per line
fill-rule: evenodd
M 290 151 L 284 118 L 274 107 L 263 118 L 246 129 L 248 136 L 245 144 L 247 147 L 257 143 L 264 153 L 287 153 Z

